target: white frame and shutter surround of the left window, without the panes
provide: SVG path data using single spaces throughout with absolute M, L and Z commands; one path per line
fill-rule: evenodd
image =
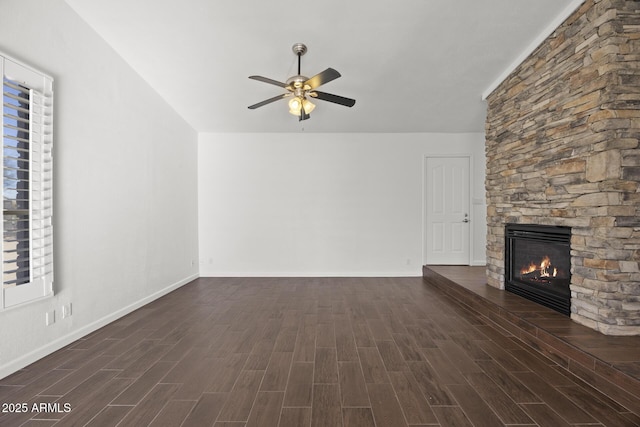
M 3 143 L 3 237 L 2 289 L 0 311 L 53 295 L 53 78 L 0 52 L 2 75 L 2 143 Z M 28 268 L 29 281 L 13 286 L 5 285 L 5 79 L 28 90 Z M 15 129 L 14 129 L 15 130 Z M 10 169 L 10 168 L 9 168 Z M 9 178 L 7 178 L 9 179 Z M 9 261 L 8 261 L 9 262 Z

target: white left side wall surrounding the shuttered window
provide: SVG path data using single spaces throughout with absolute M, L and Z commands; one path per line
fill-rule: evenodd
M 56 295 L 0 312 L 3 377 L 197 277 L 198 235 L 196 132 L 66 3 L 2 0 L 0 50 L 56 97 Z

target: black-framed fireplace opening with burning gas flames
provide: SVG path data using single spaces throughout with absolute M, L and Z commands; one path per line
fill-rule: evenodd
M 570 283 L 570 227 L 507 224 L 507 291 L 568 315 L 571 312 Z

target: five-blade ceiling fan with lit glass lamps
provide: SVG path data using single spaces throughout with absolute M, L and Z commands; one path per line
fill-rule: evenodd
M 354 106 L 356 103 L 355 99 L 345 98 L 343 96 L 332 95 L 330 93 L 316 90 L 319 86 L 340 77 L 339 72 L 333 68 L 327 68 L 323 72 L 316 74 L 311 78 L 307 78 L 300 74 L 300 58 L 307 52 L 307 46 L 303 43 L 296 43 L 293 45 L 292 50 L 293 53 L 298 56 L 298 75 L 289 77 L 285 83 L 262 76 L 249 76 L 249 78 L 253 80 L 280 86 L 286 89 L 287 92 L 282 95 L 266 99 L 262 102 L 258 102 L 257 104 L 250 105 L 249 109 L 255 110 L 258 107 L 262 107 L 263 105 L 270 104 L 280 99 L 291 98 L 289 100 L 289 113 L 298 116 L 298 120 L 307 120 L 311 117 L 309 116 L 309 113 L 311 113 L 315 108 L 315 105 L 309 100 L 309 98 L 333 102 L 334 104 L 340 104 L 346 107 Z

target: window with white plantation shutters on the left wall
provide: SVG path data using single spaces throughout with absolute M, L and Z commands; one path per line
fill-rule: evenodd
M 3 309 L 53 293 L 53 80 L 4 56 L 0 71 Z

